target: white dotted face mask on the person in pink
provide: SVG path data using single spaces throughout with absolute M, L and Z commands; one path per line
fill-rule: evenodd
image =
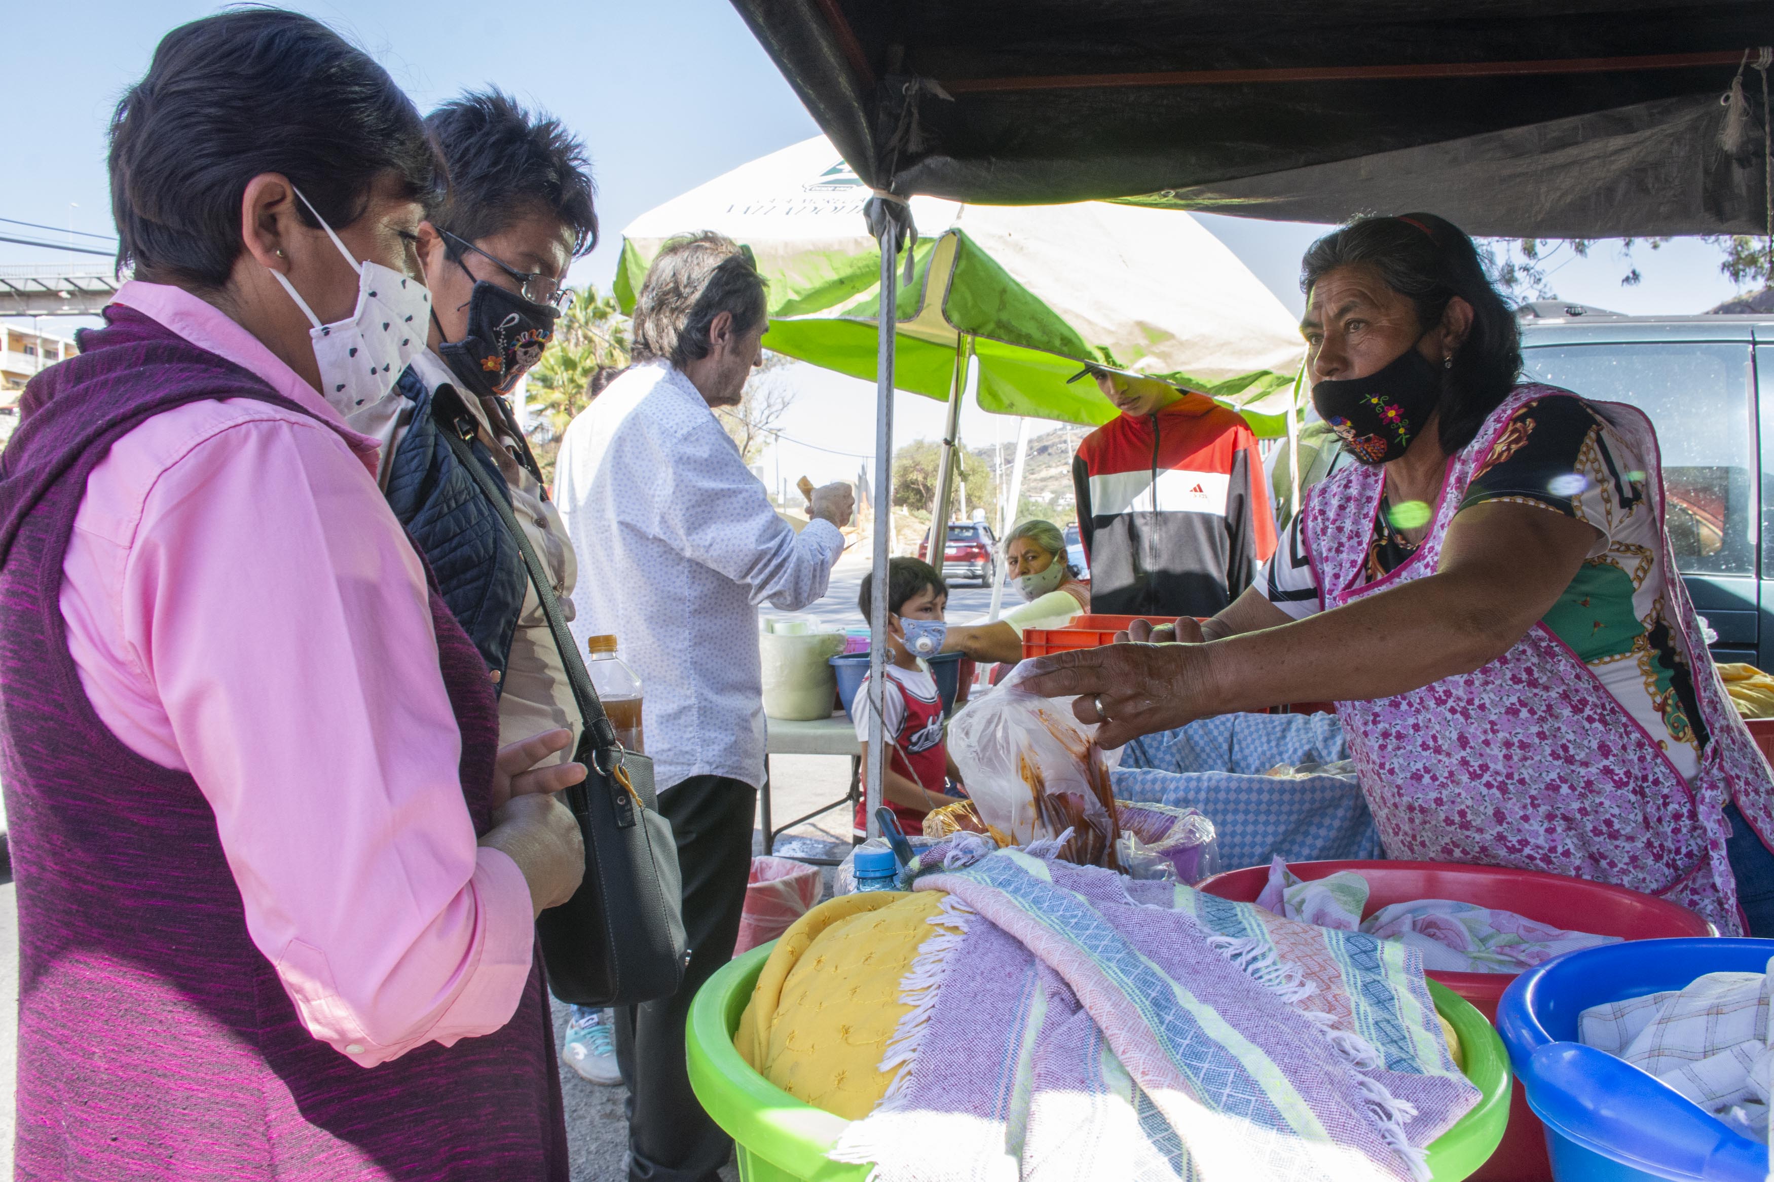
M 294 186 L 291 186 L 294 188 Z M 296 197 L 302 191 L 296 190 Z M 321 370 L 321 395 L 341 415 L 351 415 L 381 400 L 399 381 L 406 363 L 426 347 L 431 326 L 431 292 L 415 278 L 408 278 L 380 262 L 358 262 L 334 234 L 314 202 L 302 197 L 314 220 L 334 239 L 334 246 L 357 271 L 357 310 L 349 319 L 321 324 L 307 299 L 296 294 L 296 285 L 282 271 L 271 271 L 302 314 L 314 324 L 309 340 L 314 346 L 314 363 Z

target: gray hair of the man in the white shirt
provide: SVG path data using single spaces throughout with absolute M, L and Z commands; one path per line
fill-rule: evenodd
M 635 299 L 630 354 L 683 369 L 708 356 L 708 330 L 717 315 L 729 314 L 733 330 L 749 333 L 768 310 L 750 250 L 713 230 L 685 234 L 667 241 L 648 269 Z

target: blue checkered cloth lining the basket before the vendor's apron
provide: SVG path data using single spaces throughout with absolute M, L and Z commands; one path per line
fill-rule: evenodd
M 1348 758 L 1334 714 L 1221 714 L 1126 744 L 1116 799 L 1199 808 L 1224 870 L 1288 861 L 1385 858 L 1355 776 L 1265 776 L 1288 764 Z

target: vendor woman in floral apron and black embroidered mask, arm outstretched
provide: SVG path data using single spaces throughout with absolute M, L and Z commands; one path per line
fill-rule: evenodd
M 1520 383 L 1515 317 L 1437 216 L 1322 237 L 1302 287 L 1313 404 L 1361 463 L 1311 491 L 1267 579 L 1183 624 L 1197 643 L 1043 657 L 1031 688 L 1079 695 L 1105 746 L 1332 698 L 1393 858 L 1774 934 L 1774 783 L 1676 572 L 1650 422 Z

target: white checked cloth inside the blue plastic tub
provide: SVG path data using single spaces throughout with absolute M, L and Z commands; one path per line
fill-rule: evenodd
M 1769 1139 L 1769 973 L 1707 973 L 1687 989 L 1593 1005 L 1584 1046 L 1657 1076 L 1744 1136 Z

